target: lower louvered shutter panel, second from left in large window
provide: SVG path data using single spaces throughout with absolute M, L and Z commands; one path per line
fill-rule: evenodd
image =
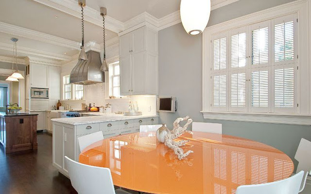
M 246 74 L 231 74 L 231 107 L 246 106 Z

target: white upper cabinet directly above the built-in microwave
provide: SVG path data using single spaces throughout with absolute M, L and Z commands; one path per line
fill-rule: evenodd
M 49 68 L 48 65 L 30 65 L 30 86 L 32 88 L 49 88 Z

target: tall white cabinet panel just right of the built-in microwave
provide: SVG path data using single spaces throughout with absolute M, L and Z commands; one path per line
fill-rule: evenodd
M 60 99 L 60 71 L 61 67 L 49 66 L 50 99 Z

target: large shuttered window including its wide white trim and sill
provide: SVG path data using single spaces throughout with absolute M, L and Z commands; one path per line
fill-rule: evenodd
M 309 48 L 309 36 L 300 30 L 308 25 L 306 5 L 282 6 L 207 27 L 204 118 L 310 123 L 311 74 L 304 49 Z

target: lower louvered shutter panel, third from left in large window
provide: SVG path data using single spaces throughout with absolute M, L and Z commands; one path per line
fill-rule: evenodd
M 252 107 L 268 107 L 269 100 L 268 70 L 251 73 L 251 105 Z

